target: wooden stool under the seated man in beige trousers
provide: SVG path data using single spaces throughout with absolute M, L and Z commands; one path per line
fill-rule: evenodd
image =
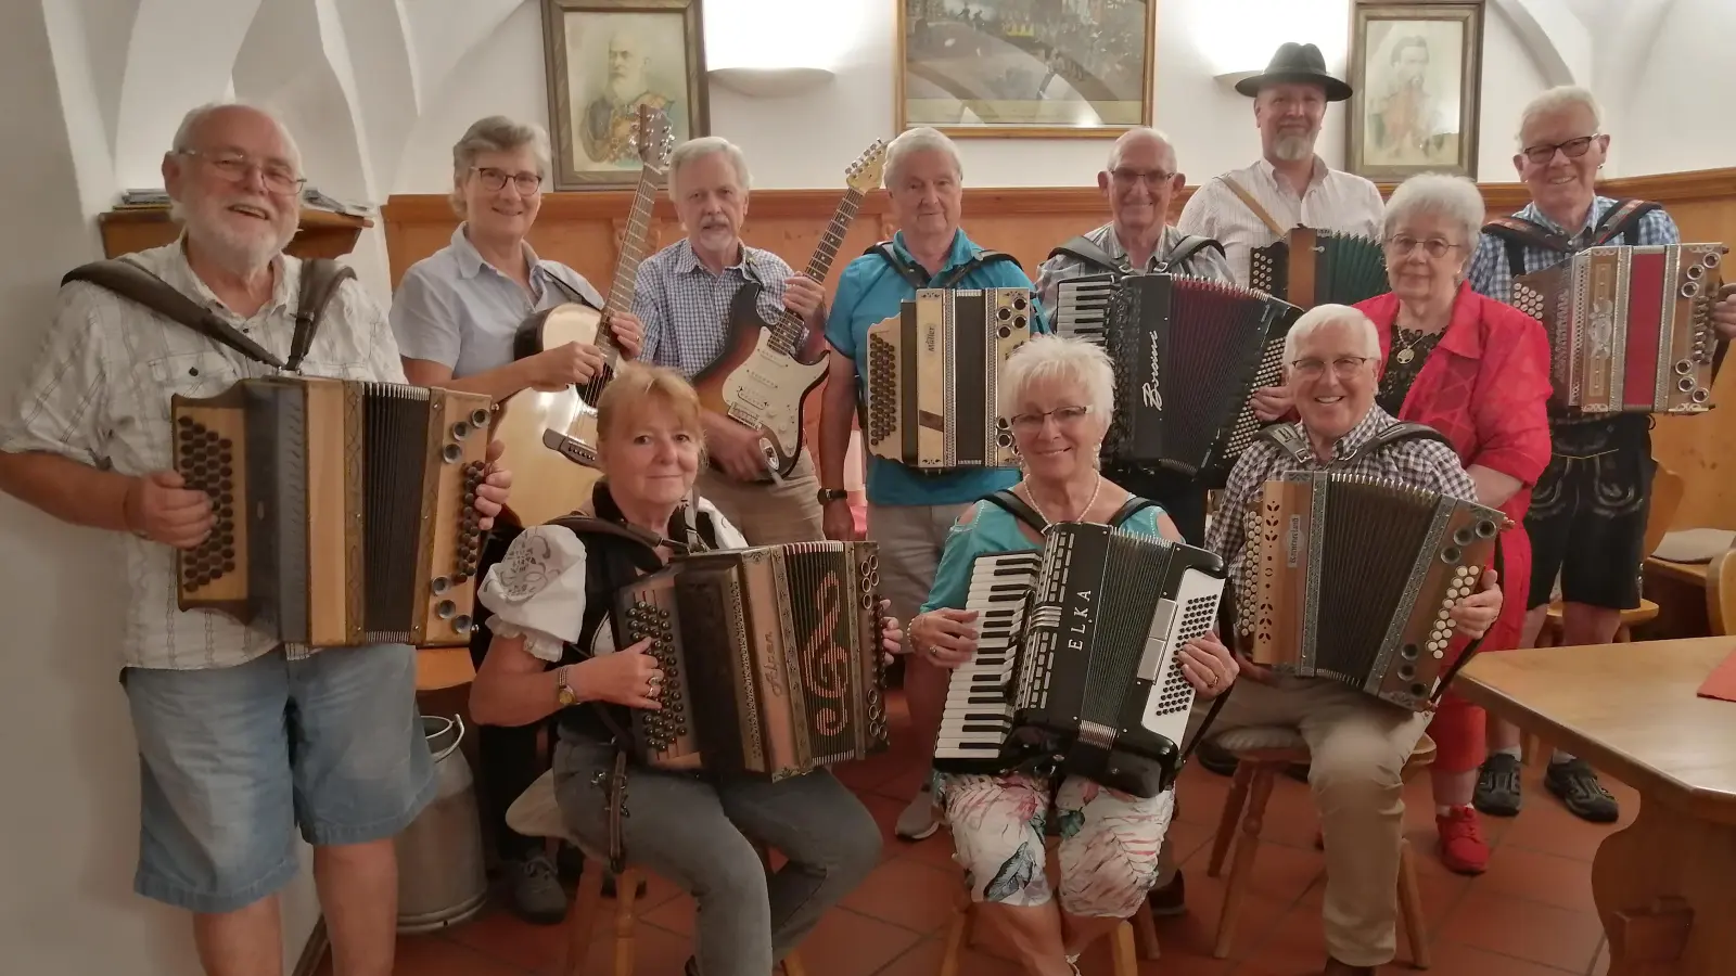
M 1260 830 L 1264 827 L 1266 802 L 1272 795 L 1272 780 L 1288 766 L 1309 762 L 1307 743 L 1293 728 L 1252 726 L 1233 729 L 1215 736 L 1219 747 L 1227 748 L 1238 759 L 1236 781 L 1224 801 L 1224 814 L 1217 821 L 1217 834 L 1212 839 L 1212 861 L 1207 875 L 1220 877 L 1224 856 L 1236 837 L 1236 821 L 1241 820 L 1241 842 L 1236 844 L 1236 861 L 1229 868 L 1229 884 L 1224 886 L 1224 912 L 1217 920 L 1217 945 L 1212 955 L 1229 957 L 1229 946 L 1236 938 L 1236 922 L 1241 917 L 1241 903 L 1248 894 L 1248 882 L 1253 880 L 1253 854 L 1260 849 Z M 1410 761 L 1399 773 L 1401 781 L 1422 768 L 1434 762 L 1434 740 L 1427 735 L 1411 750 Z M 1246 809 L 1246 816 L 1243 816 Z M 1408 839 L 1399 839 L 1399 927 L 1404 931 L 1404 943 L 1410 946 L 1411 966 L 1429 967 L 1429 943 L 1424 938 L 1422 896 L 1417 889 L 1417 865 L 1411 861 Z

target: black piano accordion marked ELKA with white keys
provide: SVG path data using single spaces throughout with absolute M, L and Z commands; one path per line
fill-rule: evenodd
M 936 768 L 1052 768 L 1139 797 L 1170 788 L 1194 691 L 1182 644 L 1217 623 L 1205 549 L 1055 523 L 1043 551 L 972 564 L 977 653 L 946 691 Z

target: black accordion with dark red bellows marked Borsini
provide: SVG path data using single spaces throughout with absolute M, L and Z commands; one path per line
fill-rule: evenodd
M 1055 332 L 1115 363 L 1102 458 L 1189 478 L 1224 476 L 1260 429 L 1253 391 L 1281 384 L 1285 335 L 1302 309 L 1177 274 L 1062 281 Z

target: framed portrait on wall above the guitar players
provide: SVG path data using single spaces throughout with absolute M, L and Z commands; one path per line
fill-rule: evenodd
M 639 182 L 639 106 L 675 142 L 707 135 L 700 0 L 542 0 L 556 189 Z

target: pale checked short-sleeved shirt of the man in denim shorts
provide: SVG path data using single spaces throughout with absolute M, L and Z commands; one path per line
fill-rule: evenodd
M 302 262 L 278 257 L 271 299 L 243 320 L 217 300 L 187 266 L 181 241 L 128 255 L 181 293 L 212 309 L 279 358 L 295 335 Z M 385 311 L 345 281 L 314 335 L 302 373 L 345 380 L 404 382 Z M 0 452 L 54 453 L 78 464 L 148 474 L 174 467 L 168 398 L 215 396 L 236 380 L 274 375 L 191 328 L 85 281 L 61 288 L 47 342 L 10 417 Z M 175 608 L 174 549 L 116 533 L 132 597 L 122 646 L 127 667 L 214 669 L 247 663 L 278 646 L 262 630 L 212 610 Z

